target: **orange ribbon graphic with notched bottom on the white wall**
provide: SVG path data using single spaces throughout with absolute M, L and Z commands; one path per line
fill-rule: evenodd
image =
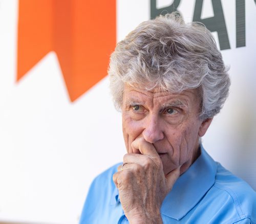
M 55 51 L 71 101 L 106 76 L 116 0 L 19 0 L 17 81 Z

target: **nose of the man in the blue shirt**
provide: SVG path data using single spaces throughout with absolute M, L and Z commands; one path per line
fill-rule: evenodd
M 148 116 L 145 120 L 142 135 L 147 142 L 155 143 L 164 138 L 162 128 L 161 119 L 158 116 Z

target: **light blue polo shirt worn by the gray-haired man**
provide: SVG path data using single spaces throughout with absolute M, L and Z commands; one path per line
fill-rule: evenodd
M 117 164 L 93 181 L 80 224 L 129 223 L 112 181 Z M 256 223 L 256 192 L 216 163 L 201 146 L 201 155 L 165 197 L 163 223 Z

